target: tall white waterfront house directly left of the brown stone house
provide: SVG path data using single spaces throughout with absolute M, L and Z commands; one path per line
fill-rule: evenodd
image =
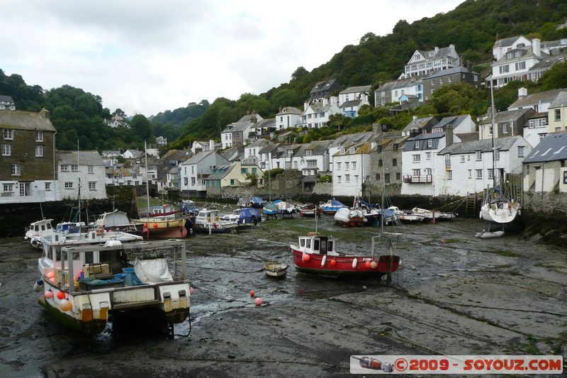
M 356 143 L 340 148 L 333 155 L 332 195 L 359 196 L 366 177 L 370 177 L 370 152 L 374 143 Z

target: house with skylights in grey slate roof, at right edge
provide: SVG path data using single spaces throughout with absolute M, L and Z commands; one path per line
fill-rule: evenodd
M 523 161 L 524 191 L 567 193 L 567 132 L 550 133 Z

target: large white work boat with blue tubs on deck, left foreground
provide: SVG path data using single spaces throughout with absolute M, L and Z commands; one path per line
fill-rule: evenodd
M 185 321 L 190 287 L 184 241 L 140 239 L 105 233 L 44 248 L 34 285 L 42 291 L 39 304 L 60 323 L 90 336 L 103 332 L 111 314 L 158 311 L 166 323 Z M 164 250 L 173 250 L 172 272 Z

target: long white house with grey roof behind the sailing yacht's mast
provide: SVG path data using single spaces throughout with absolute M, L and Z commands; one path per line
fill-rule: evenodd
M 505 179 L 505 174 L 521 173 L 522 160 L 532 151 L 527 140 L 515 135 L 495 139 L 494 143 L 494 159 L 492 140 L 488 139 L 451 143 L 439 151 L 434 195 L 478 193 L 493 187 L 494 172 L 498 181 Z

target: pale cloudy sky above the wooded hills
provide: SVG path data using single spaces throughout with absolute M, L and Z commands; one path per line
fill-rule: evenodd
M 461 1 L 0 0 L 0 69 L 150 116 L 262 93 L 365 33 L 386 35 L 400 19 L 411 23 Z

